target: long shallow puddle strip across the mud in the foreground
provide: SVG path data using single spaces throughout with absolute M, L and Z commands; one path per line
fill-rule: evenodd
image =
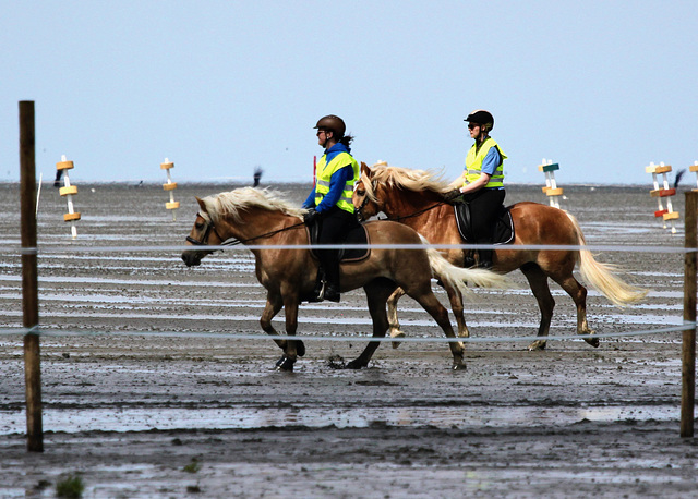
M 586 407 L 471 406 L 462 407 L 372 407 L 356 411 L 302 406 L 232 409 L 80 409 L 47 410 L 45 431 L 146 431 L 149 429 L 244 429 L 274 426 L 362 428 L 373 423 L 395 427 L 433 426 L 437 428 L 567 426 L 582 421 L 678 421 L 679 407 L 673 405 L 623 405 Z M 0 435 L 26 430 L 23 411 L 5 412 Z

